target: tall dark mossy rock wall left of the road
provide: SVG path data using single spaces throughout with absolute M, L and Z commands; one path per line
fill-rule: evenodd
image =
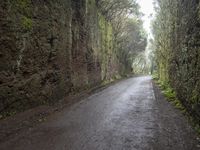
M 0 112 L 55 102 L 118 75 L 95 0 L 0 2 Z

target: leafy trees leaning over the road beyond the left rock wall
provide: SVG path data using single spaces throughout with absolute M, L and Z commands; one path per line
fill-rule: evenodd
M 100 27 L 105 28 L 104 20 L 110 22 L 112 26 L 111 29 L 106 28 L 105 36 L 110 36 L 111 40 L 105 42 L 111 43 L 112 49 L 116 51 L 117 59 L 121 64 L 120 74 L 132 73 L 135 67 L 132 65 L 133 62 L 136 57 L 141 56 L 147 45 L 147 35 L 143 29 L 142 14 L 137 2 L 135 0 L 99 0 L 97 5 L 102 14 L 100 16 L 104 18 L 100 17 Z M 132 14 L 132 17 L 127 17 L 127 14 Z M 107 49 L 110 48 L 107 47 Z M 107 56 L 111 56 L 110 53 Z

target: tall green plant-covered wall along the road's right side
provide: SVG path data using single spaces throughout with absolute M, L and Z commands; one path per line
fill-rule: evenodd
M 177 107 L 184 106 L 196 124 L 200 124 L 199 6 L 195 0 L 156 0 L 151 40 L 153 69 L 164 94 Z

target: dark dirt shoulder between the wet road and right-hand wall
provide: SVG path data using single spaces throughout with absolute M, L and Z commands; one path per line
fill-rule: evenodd
M 181 146 L 183 150 L 188 148 L 199 150 L 200 139 L 188 118 L 166 100 L 154 82 L 153 89 L 159 112 L 155 115 L 158 126 L 155 149 L 161 149 L 165 146 L 164 149 L 176 150 L 176 147 Z

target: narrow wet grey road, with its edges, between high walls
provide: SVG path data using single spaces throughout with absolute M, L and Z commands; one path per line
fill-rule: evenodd
M 151 77 L 120 81 L 0 143 L 1 150 L 198 150 L 186 118 Z

